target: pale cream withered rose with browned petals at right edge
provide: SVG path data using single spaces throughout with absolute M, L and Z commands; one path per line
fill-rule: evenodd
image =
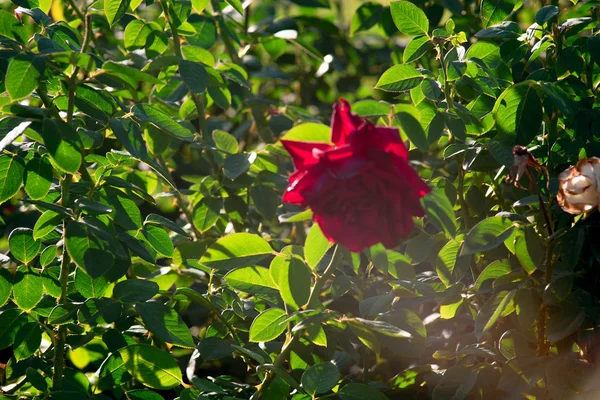
M 581 159 L 558 175 L 558 204 L 570 214 L 592 211 L 600 205 L 600 158 Z

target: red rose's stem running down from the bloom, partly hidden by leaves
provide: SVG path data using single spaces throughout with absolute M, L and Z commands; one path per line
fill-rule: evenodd
M 341 262 L 341 260 L 342 260 L 342 248 L 339 244 L 336 244 L 335 248 L 333 249 L 333 256 L 331 257 L 331 261 L 329 262 L 329 265 L 327 266 L 327 268 L 325 268 L 323 275 L 321 275 L 319 278 L 317 278 L 315 285 L 313 286 L 313 289 L 310 292 L 310 296 L 306 303 L 307 309 L 311 309 L 311 308 L 312 309 L 320 309 L 322 307 L 322 304 L 319 301 L 319 296 L 321 295 L 323 286 L 329 280 L 329 278 L 331 278 L 331 275 L 333 275 L 333 272 L 336 270 L 336 268 L 339 265 L 339 263 Z M 299 330 L 291 336 L 288 334 L 286 341 L 285 341 L 283 347 L 281 348 L 281 352 L 279 353 L 279 355 L 277 357 L 275 357 L 275 361 L 273 363 L 275 365 L 275 367 L 277 367 L 279 369 L 283 368 L 283 366 L 285 364 L 285 360 L 288 359 L 290 352 L 292 351 L 292 348 L 300 340 L 302 333 L 303 333 L 303 331 Z M 257 396 L 257 397 L 255 397 L 256 400 L 262 399 L 264 397 L 265 393 L 269 389 L 269 386 L 273 382 L 273 379 L 275 379 L 275 373 L 273 371 L 269 371 L 267 373 L 265 380 L 260 385 L 260 389 L 256 393 L 256 396 Z

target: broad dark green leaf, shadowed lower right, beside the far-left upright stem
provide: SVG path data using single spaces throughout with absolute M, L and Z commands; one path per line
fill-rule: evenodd
M 92 278 L 102 276 L 115 262 L 112 244 L 84 223 L 67 224 L 65 243 L 73 262 Z

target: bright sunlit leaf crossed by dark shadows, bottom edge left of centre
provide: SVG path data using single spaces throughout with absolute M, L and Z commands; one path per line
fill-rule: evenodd
M 158 390 L 181 384 L 181 370 L 169 353 L 145 344 L 134 344 L 119 350 L 127 372 L 140 383 Z

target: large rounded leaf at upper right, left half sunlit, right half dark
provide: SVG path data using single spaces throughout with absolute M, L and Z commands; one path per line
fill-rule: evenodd
M 496 100 L 492 114 L 498 132 L 515 137 L 523 146 L 531 143 L 540 132 L 542 102 L 535 82 L 521 82 L 505 90 Z

